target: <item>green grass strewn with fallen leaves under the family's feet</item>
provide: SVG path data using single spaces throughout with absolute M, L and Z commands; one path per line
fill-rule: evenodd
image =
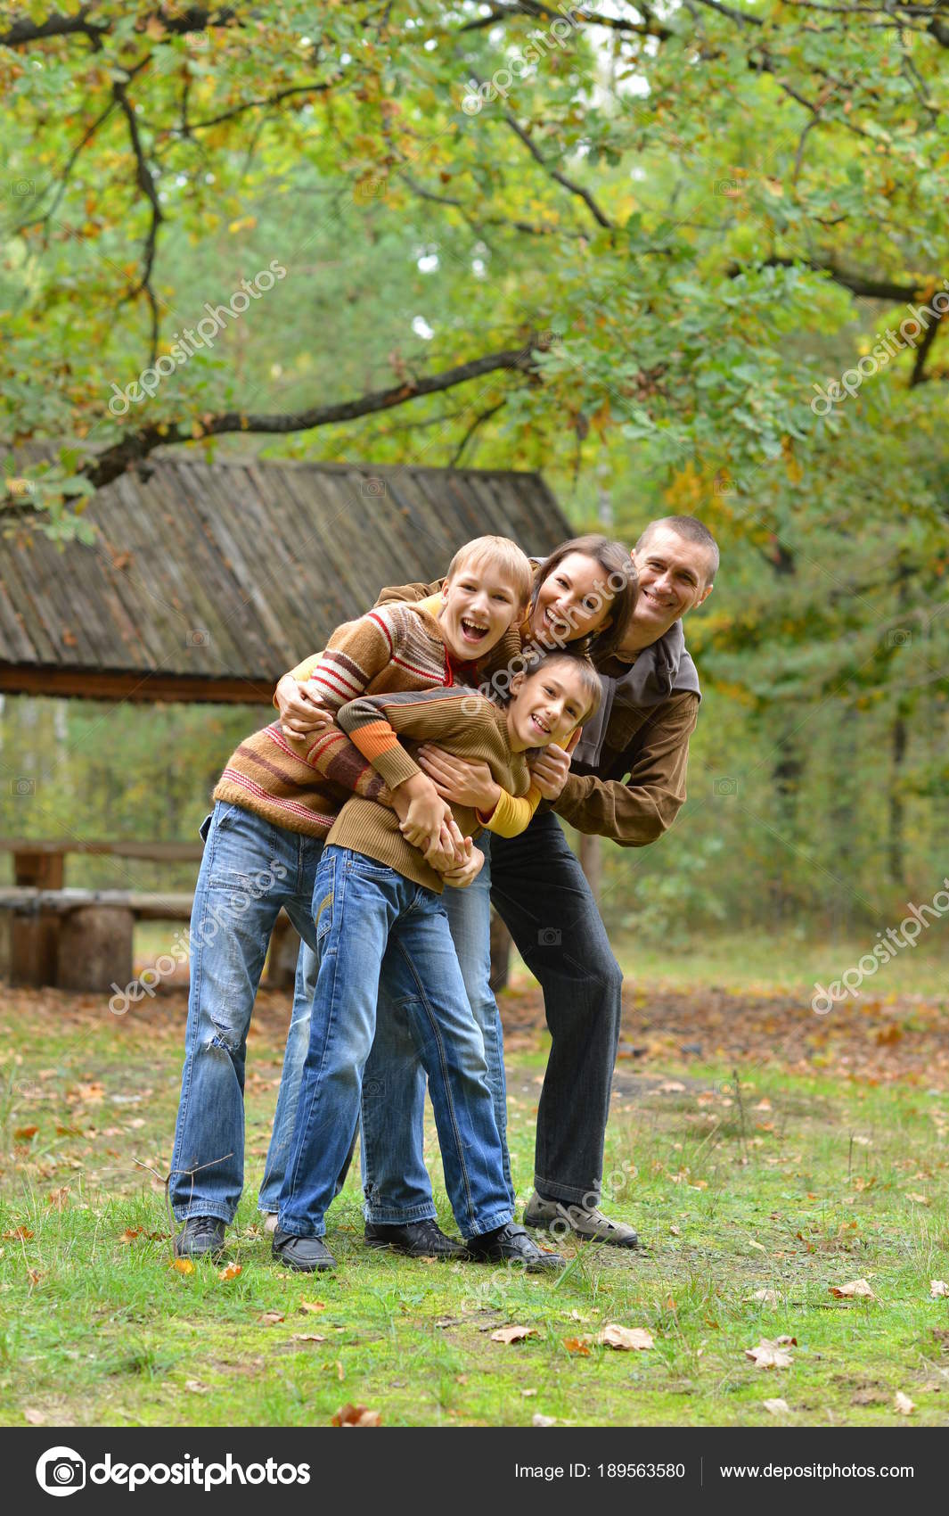
M 773 1425 L 763 1402 L 775 1396 L 788 1425 L 893 1425 L 897 1390 L 914 1424 L 949 1424 L 949 1301 L 929 1298 L 929 1281 L 949 1278 L 944 1067 L 863 1078 L 825 1049 L 810 1069 L 756 1057 L 735 1085 L 731 1054 L 685 1060 L 673 1038 L 644 1073 L 619 1064 L 609 1126 L 608 1210 L 635 1220 L 646 1254 L 567 1246 L 556 1283 L 379 1255 L 361 1243 L 350 1176 L 329 1217 L 338 1273 L 303 1280 L 270 1261 L 255 1210 L 287 1013 L 282 996 L 261 1001 L 229 1251 L 240 1273 L 224 1281 L 221 1266 L 168 1266 L 162 1187 L 133 1166 L 165 1170 L 183 994 L 117 1020 L 105 998 L 3 991 L 5 1425 L 326 1425 L 347 1401 L 385 1425 L 529 1425 L 535 1413 Z M 546 1034 L 509 1038 L 525 1195 L 544 1060 Z M 875 1301 L 831 1295 L 857 1278 Z M 282 1319 L 267 1325 L 268 1311 Z M 609 1322 L 646 1326 L 655 1346 L 582 1342 Z M 535 1336 L 493 1342 L 506 1323 Z M 796 1337 L 791 1366 L 755 1367 L 744 1349 L 781 1334 Z

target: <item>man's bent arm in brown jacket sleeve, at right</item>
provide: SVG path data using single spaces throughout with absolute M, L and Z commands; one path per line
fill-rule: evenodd
M 673 694 L 635 732 L 628 749 L 629 778 L 572 773 L 553 802 L 556 814 L 578 831 L 609 837 L 622 847 L 653 843 L 685 800 L 688 738 L 697 716 L 696 694 Z

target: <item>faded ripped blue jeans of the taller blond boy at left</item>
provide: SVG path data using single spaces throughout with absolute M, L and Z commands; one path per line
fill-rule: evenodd
M 244 1060 L 253 1002 L 280 907 L 315 951 L 311 907 L 323 843 L 271 826 L 224 800 L 215 803 L 202 835 L 171 1204 L 179 1220 L 217 1216 L 230 1222 L 244 1187 Z M 309 1004 L 302 1007 L 299 1001 L 306 988 L 308 964 L 302 958 L 285 1069 L 300 1067 L 302 1046 L 309 1038 Z M 299 1084 L 282 1081 L 265 1181 L 274 1196 L 297 1092 Z

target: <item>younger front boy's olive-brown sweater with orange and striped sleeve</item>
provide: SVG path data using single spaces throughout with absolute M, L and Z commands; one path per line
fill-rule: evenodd
M 343 706 L 338 722 L 393 788 L 417 772 L 411 749 L 424 741 L 438 743 L 458 758 L 484 760 L 494 781 L 511 794 L 523 796 L 531 785 L 526 752 L 511 752 L 505 713 L 484 694 L 459 685 L 453 690 L 362 696 Z M 452 811 L 464 837 L 481 831 L 473 810 L 453 805 Z M 399 817 L 384 805 L 352 796 L 334 822 L 327 841 L 388 864 L 403 878 L 441 894 L 441 875 L 429 867 L 417 847 L 406 843 L 399 831 Z

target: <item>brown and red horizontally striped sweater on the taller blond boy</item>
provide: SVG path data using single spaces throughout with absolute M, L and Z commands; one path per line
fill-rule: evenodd
M 506 641 L 502 640 L 494 658 Z M 452 670 L 431 609 L 387 605 L 337 628 L 323 653 L 294 673 L 315 679 L 324 703 L 337 711 L 364 693 L 450 687 L 455 675 L 461 678 L 465 670 L 471 670 L 473 681 L 481 678 L 481 664 Z M 308 837 L 326 837 L 353 794 L 382 805 L 391 802 L 385 781 L 346 732 L 332 726 L 315 737 L 288 738 L 279 722 L 240 744 L 214 790 L 215 800 L 243 805 L 274 826 Z

